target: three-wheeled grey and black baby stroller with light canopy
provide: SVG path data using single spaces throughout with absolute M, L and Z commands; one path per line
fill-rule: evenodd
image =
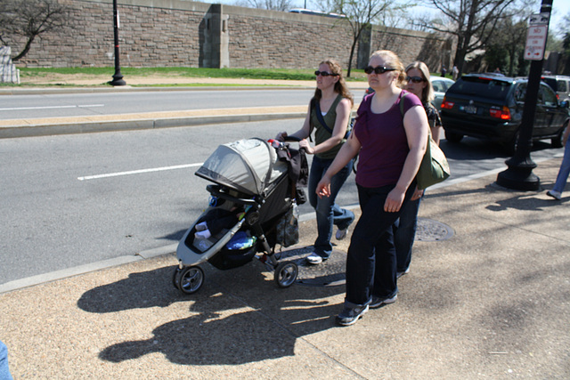
M 304 184 L 308 174 L 305 151 L 257 138 L 234 141 L 220 145 L 195 174 L 214 184 L 206 187 L 208 208 L 176 249 L 175 287 L 195 293 L 204 283 L 199 264 L 229 270 L 249 263 L 257 253 L 274 271 L 277 286 L 290 287 L 298 268 L 296 263 L 279 263 L 276 227 L 297 207 L 297 183 Z

